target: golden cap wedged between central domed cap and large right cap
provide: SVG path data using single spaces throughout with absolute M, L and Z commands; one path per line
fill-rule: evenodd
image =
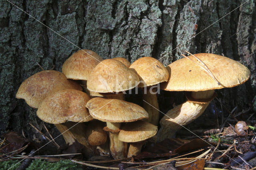
M 164 65 L 153 57 L 142 57 L 130 65 L 142 81 L 138 87 L 147 87 L 168 80 L 169 73 Z

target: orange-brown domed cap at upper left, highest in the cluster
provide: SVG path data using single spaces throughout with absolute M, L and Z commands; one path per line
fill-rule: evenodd
M 102 57 L 89 49 L 81 49 L 72 54 L 62 65 L 62 73 L 68 79 L 87 80 Z

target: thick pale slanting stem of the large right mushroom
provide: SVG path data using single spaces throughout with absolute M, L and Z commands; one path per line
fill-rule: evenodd
M 160 120 L 161 128 L 157 133 L 157 140 L 162 141 L 166 138 L 174 136 L 182 126 L 188 125 L 197 119 L 212 101 L 214 97 L 214 90 L 192 92 L 191 97 L 194 99 L 209 99 L 207 102 L 193 102 L 186 101 L 168 111 L 166 115 Z M 181 126 L 182 125 L 182 126 Z

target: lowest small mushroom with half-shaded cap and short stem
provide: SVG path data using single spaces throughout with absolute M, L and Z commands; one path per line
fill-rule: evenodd
M 154 136 L 157 126 L 145 121 L 126 123 L 119 132 L 118 139 L 130 142 L 127 157 L 137 156 L 145 140 Z

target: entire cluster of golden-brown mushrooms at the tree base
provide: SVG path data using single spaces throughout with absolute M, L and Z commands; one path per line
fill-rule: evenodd
M 122 57 L 103 60 L 83 49 L 64 62 L 62 73 L 46 70 L 26 79 L 16 97 L 38 108 L 38 117 L 54 124 L 67 144 L 83 144 L 87 158 L 107 154 L 121 159 L 138 155 L 152 136 L 170 138 L 180 125 L 204 112 L 216 97 L 214 89 L 240 85 L 249 76 L 247 67 L 237 61 L 208 53 L 190 55 L 164 67 L 152 57 L 131 64 Z M 144 88 L 144 108 L 125 101 L 123 92 L 135 87 Z M 160 130 L 159 87 L 187 91 L 188 99 L 166 113 Z

